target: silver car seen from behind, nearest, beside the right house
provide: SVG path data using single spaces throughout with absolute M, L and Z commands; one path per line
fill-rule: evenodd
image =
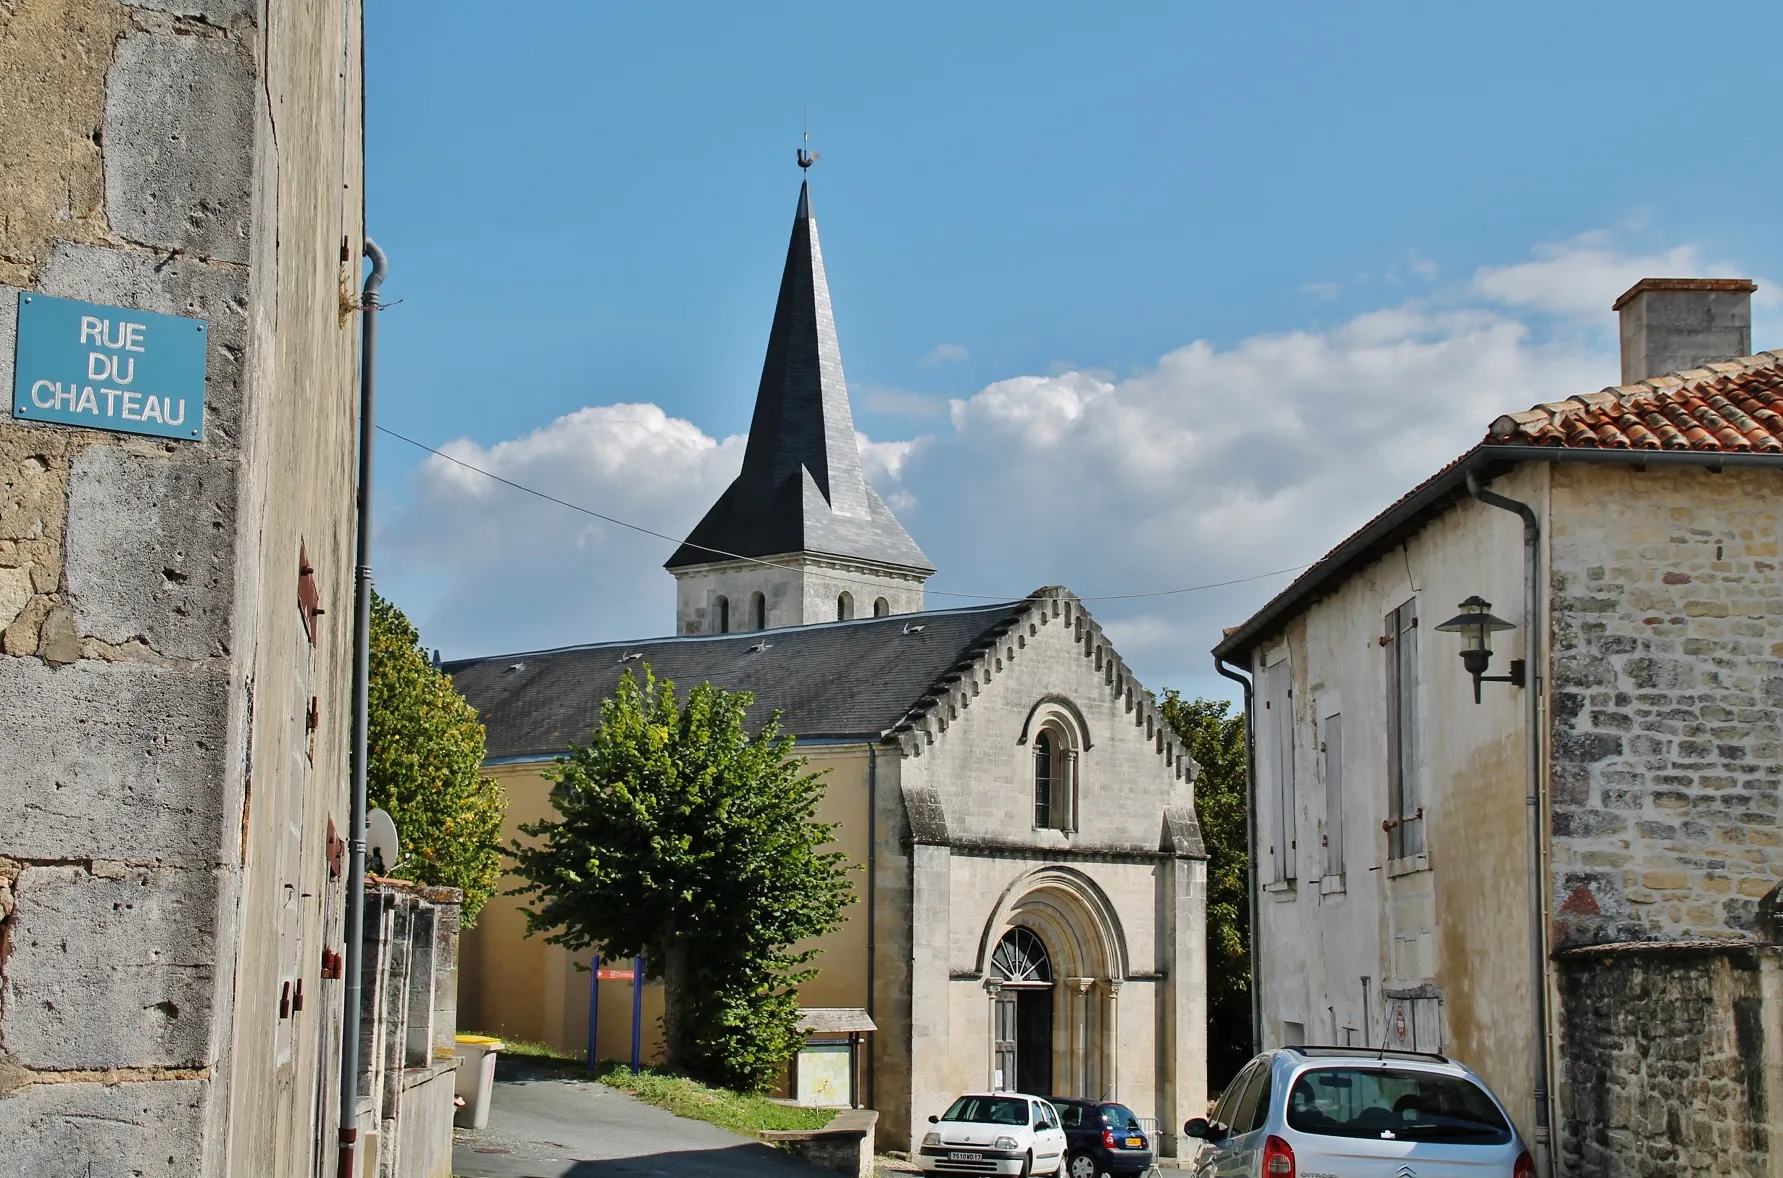
M 1505 1107 L 1466 1064 L 1423 1051 L 1280 1048 L 1211 1116 L 1196 1178 L 1533 1178 Z

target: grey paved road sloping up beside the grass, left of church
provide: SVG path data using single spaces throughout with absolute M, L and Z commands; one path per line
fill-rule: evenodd
M 458 1130 L 460 1178 L 817 1178 L 826 1173 L 604 1084 L 501 1060 L 487 1130 Z

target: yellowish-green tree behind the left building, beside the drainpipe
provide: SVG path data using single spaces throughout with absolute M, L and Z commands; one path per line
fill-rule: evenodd
M 390 813 L 401 863 L 387 870 L 464 891 L 464 923 L 501 880 L 508 798 L 481 775 L 483 725 L 390 601 L 371 595 L 366 793 Z

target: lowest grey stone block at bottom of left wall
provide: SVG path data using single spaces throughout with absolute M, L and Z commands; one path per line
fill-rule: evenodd
M 32 1178 L 196 1174 L 210 1084 L 34 1084 L 0 1098 L 0 1157 Z

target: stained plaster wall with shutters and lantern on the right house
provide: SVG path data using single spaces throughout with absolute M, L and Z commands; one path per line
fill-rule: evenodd
M 1524 467 L 1492 490 L 1544 511 L 1546 470 Z M 1473 684 L 1460 640 L 1435 626 L 1480 593 L 1514 622 L 1491 674 L 1523 658 L 1523 529 L 1473 501 L 1432 520 L 1403 547 L 1355 570 L 1255 656 L 1259 781 L 1259 975 L 1264 1046 L 1287 1025 L 1307 1043 L 1382 1043 L 1393 994 L 1435 998 L 1441 1046 L 1478 1069 L 1530 1128 L 1528 871 L 1524 690 Z M 1391 859 L 1387 797 L 1387 611 L 1417 602 L 1417 768 L 1425 854 Z M 1269 882 L 1277 804 L 1273 732 L 1262 677 L 1286 661 L 1293 729 L 1296 877 Z M 1327 741 L 1341 720 L 1343 871 L 1327 864 Z M 1362 978 L 1368 978 L 1364 1005 Z

